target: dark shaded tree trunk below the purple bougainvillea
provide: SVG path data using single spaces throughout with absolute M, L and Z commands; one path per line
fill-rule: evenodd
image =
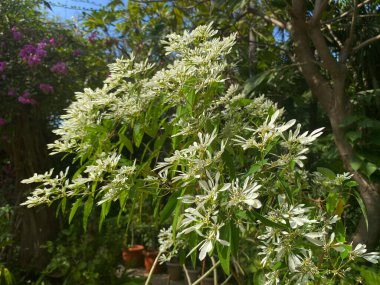
M 34 173 L 44 172 L 49 166 L 46 149 L 46 122 L 38 120 L 37 114 L 25 112 L 15 116 L 13 134 L 5 147 L 10 157 L 16 183 L 13 203 L 16 205 L 14 231 L 20 246 L 17 263 L 23 270 L 40 271 L 46 266 L 48 254 L 41 248 L 48 240 L 56 237 L 58 223 L 53 208 L 28 209 L 18 207 L 33 186 L 20 183 Z

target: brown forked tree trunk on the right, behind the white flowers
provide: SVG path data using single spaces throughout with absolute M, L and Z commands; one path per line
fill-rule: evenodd
M 347 69 L 345 62 L 338 62 L 328 49 L 318 19 L 323 11 L 323 5 L 321 1 L 317 3 L 319 7 L 314 10 L 313 17 L 307 20 L 304 0 L 293 0 L 292 9 L 289 11 L 291 22 L 288 29 L 294 40 L 296 63 L 313 96 L 317 98 L 330 120 L 339 155 L 346 170 L 354 175 L 354 179 L 359 184 L 359 192 L 367 209 L 368 230 L 362 218 L 352 237 L 353 242 L 354 244 L 365 243 L 370 250 L 373 250 L 380 238 L 380 189 L 351 166 L 354 150 L 347 141 L 344 130 L 340 127 L 352 109 L 345 93 Z M 324 3 L 326 5 L 327 2 L 324 1 Z M 347 40 L 347 43 L 349 42 Z M 348 49 L 342 52 L 346 53 Z M 319 61 L 315 58 L 315 51 L 320 57 Z M 331 79 L 324 76 L 326 72 Z

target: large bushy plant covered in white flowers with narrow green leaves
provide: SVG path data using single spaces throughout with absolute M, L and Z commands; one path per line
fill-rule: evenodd
M 240 284 L 254 264 L 265 284 L 333 284 L 355 262 L 377 263 L 345 234 L 350 175 L 304 169 L 322 128 L 302 132 L 264 96 L 249 98 L 228 76 L 236 35 L 216 34 L 209 25 L 169 35 L 167 67 L 119 59 L 102 88 L 77 93 L 49 145 L 74 169 L 24 180 L 39 186 L 23 205 L 71 202 L 69 220 L 83 207 L 85 226 L 96 205 L 100 225 L 111 207 L 129 217 L 131 205 L 153 208 L 171 223 L 160 262 L 217 258 Z

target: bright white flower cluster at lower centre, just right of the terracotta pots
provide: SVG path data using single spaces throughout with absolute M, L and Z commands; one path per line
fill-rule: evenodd
M 182 231 L 178 234 L 189 234 L 195 231 L 201 238 L 201 241 L 195 246 L 189 255 L 199 248 L 199 259 L 203 260 L 210 253 L 215 243 L 229 246 L 229 243 L 220 238 L 220 230 L 226 222 L 228 222 L 228 213 L 237 209 L 252 208 L 258 209 L 262 206 L 257 199 L 260 185 L 247 177 L 241 185 L 239 179 L 235 179 L 233 183 L 220 184 L 220 173 L 217 172 L 215 177 L 206 171 L 208 180 L 199 181 L 200 193 L 193 195 L 185 195 L 180 197 L 185 204 L 192 206 L 186 208 L 184 219 L 180 224 Z

